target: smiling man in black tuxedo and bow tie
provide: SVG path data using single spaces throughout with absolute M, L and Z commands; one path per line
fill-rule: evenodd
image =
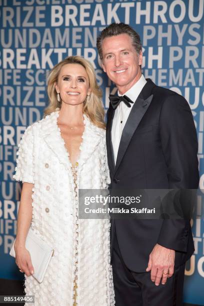
M 197 188 L 197 137 L 186 100 L 145 80 L 140 37 L 129 25 L 107 26 L 97 48 L 122 96 L 110 96 L 107 114 L 111 189 Z M 189 220 L 113 219 L 116 306 L 181 305 L 185 261 L 193 250 Z

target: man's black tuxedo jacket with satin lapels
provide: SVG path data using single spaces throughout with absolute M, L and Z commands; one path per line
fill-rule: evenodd
M 198 187 L 196 130 L 181 95 L 147 79 L 123 128 L 116 164 L 111 142 L 113 117 L 110 104 L 106 127 L 110 188 Z M 111 248 L 115 232 L 124 262 L 135 272 L 145 271 L 156 243 L 176 251 L 175 266 L 194 251 L 190 223 L 184 219 L 113 219 Z

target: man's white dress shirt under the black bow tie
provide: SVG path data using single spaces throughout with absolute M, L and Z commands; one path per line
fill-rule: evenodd
M 139 93 L 141 92 L 143 86 L 145 85 L 146 80 L 141 74 L 139 80 L 124 94 L 128 96 L 133 102 L 137 99 Z M 118 95 L 119 92 L 117 91 Z M 124 95 L 123 94 L 123 95 Z M 112 139 L 112 147 L 113 147 L 113 154 L 114 154 L 114 162 L 116 163 L 117 159 L 117 152 L 119 148 L 119 142 L 122 135 L 122 130 L 124 125 L 127 121 L 129 113 L 134 103 L 131 103 L 131 107 L 128 107 L 123 101 L 119 103 L 117 108 L 115 109 L 113 121 L 112 121 L 112 129 L 111 129 L 111 139 Z

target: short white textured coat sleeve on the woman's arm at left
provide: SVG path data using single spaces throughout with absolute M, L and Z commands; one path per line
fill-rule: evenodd
M 13 175 L 15 180 L 28 183 L 34 183 L 32 130 L 32 126 L 28 126 L 18 144 L 15 174 Z

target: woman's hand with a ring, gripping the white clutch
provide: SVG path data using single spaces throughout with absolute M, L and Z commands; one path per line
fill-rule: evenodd
M 23 271 L 26 276 L 34 273 L 34 268 L 31 262 L 30 253 L 25 246 L 18 246 L 14 244 L 15 249 L 15 262 L 19 267 L 20 272 Z

